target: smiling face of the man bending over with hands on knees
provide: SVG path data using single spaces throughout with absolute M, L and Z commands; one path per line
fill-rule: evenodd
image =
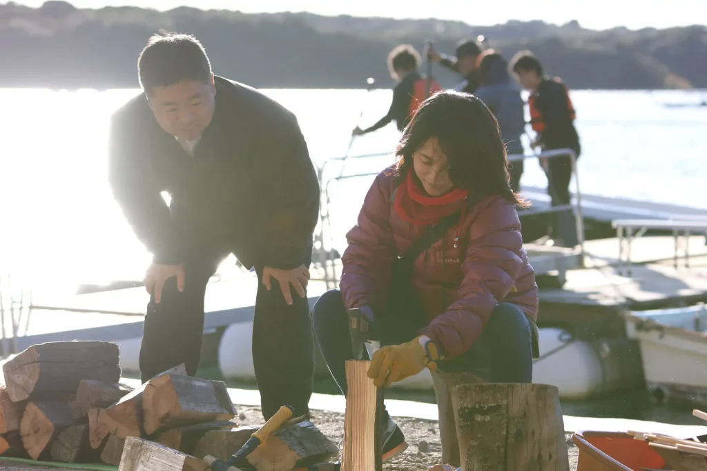
M 183 80 L 153 87 L 148 95 L 150 109 L 162 129 L 185 141 L 201 137 L 214 117 L 216 87 L 211 82 Z

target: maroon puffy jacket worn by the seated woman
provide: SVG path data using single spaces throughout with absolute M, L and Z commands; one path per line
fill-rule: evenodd
M 347 309 L 384 306 L 394 258 L 429 227 L 413 225 L 395 213 L 391 196 L 396 183 L 390 170 L 375 178 L 358 224 L 346 234 L 349 246 L 341 257 L 340 287 Z M 430 320 L 424 333 L 443 346 L 446 357 L 471 347 L 499 302 L 513 303 L 537 319 L 535 275 L 522 247 L 513 203 L 501 196 L 485 198 L 467 208 L 443 239 L 416 259 L 412 284 Z

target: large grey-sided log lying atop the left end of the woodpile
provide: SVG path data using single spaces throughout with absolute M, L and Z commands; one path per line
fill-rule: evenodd
M 111 342 L 48 342 L 33 345 L 3 365 L 8 395 L 54 400 L 75 394 L 82 379 L 117 383 L 118 346 Z

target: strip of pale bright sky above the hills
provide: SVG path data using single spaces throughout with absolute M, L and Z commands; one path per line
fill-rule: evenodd
M 40 6 L 44 0 L 16 0 Z M 177 6 L 229 9 L 245 12 L 310 11 L 322 15 L 440 18 L 472 25 L 494 25 L 507 20 L 578 20 L 585 28 L 626 26 L 668 28 L 707 24 L 707 0 L 69 0 L 80 8 L 136 5 L 168 10 Z M 411 7 L 411 5 L 415 5 Z

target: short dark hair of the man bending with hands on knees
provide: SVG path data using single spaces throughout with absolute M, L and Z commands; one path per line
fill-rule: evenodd
M 137 71 L 145 93 L 183 80 L 211 82 L 211 62 L 201 42 L 191 35 L 160 30 L 138 56 Z

